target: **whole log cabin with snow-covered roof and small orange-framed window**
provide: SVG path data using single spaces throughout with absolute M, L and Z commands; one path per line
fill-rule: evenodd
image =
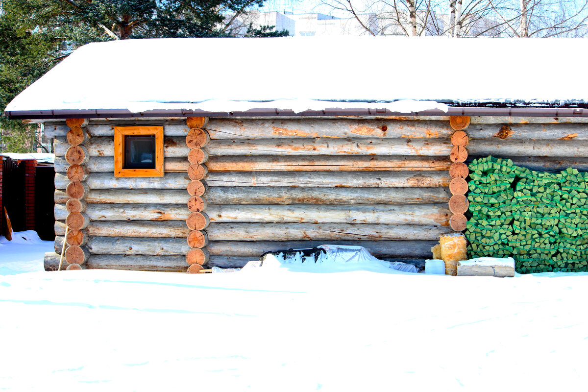
M 586 42 L 82 46 L 5 111 L 54 138 L 45 268 L 198 273 L 323 243 L 422 265 L 466 229 L 472 159 L 588 169 L 588 83 L 573 77 Z

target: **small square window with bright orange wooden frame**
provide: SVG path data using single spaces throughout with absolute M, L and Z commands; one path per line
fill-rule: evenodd
M 114 176 L 163 177 L 163 127 L 114 127 Z

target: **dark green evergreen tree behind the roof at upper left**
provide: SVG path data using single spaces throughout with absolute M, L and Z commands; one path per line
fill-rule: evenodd
M 264 0 L 4 0 L 0 110 L 79 46 L 132 38 L 230 36 L 235 16 Z M 226 15 L 232 15 L 227 18 Z M 262 26 L 246 36 L 285 36 Z M 36 125 L 0 118 L 0 152 L 35 148 Z

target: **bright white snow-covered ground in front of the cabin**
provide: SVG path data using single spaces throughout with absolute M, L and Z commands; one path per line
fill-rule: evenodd
M 51 248 L 0 246 L 0 389 L 580 391 L 588 383 L 586 274 L 427 276 L 365 263 L 15 273 L 42 269 Z M 7 256 L 15 252 L 21 267 Z

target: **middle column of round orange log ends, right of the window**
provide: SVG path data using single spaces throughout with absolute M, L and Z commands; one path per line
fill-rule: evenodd
M 208 153 L 204 149 L 211 141 L 208 132 L 204 130 L 204 126 L 208 122 L 206 117 L 188 117 L 186 125 L 190 128 L 188 135 L 186 135 L 186 146 L 190 148 L 188 153 L 188 176 L 190 182 L 186 190 L 191 196 L 188 200 L 188 209 L 190 214 L 186 219 L 186 226 L 191 232 L 188 234 L 188 246 L 191 248 L 186 254 L 186 263 L 188 263 L 188 273 L 202 273 L 202 270 L 208 260 L 210 254 L 206 250 L 208 239 L 206 232 L 203 230 L 208 227 L 210 220 L 204 210 L 208 203 L 205 197 L 207 187 L 202 182 L 208 175 L 208 168 L 205 165 L 208 160 Z

